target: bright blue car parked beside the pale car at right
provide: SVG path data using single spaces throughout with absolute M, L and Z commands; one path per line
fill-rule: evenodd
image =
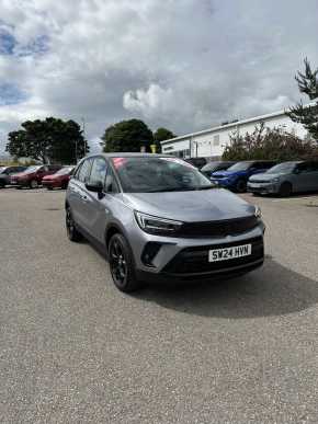
M 226 171 L 217 171 L 212 175 L 211 181 L 220 187 L 229 188 L 238 193 L 247 191 L 247 183 L 251 175 L 263 173 L 272 168 L 274 161 L 243 161 L 237 162 Z

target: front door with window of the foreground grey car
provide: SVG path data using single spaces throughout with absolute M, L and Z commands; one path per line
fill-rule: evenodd
M 101 183 L 105 185 L 107 162 L 103 157 L 95 157 L 92 161 L 91 173 L 88 183 Z M 104 205 L 105 194 L 99 194 L 86 190 L 86 198 L 82 200 L 81 221 L 91 237 L 103 243 L 105 232 L 101 227 L 105 225 L 106 213 Z

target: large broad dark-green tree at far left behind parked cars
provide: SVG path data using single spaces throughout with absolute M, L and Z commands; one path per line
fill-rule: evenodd
M 26 121 L 23 129 L 8 135 L 7 151 L 11 156 L 27 157 L 43 163 L 76 163 L 89 151 L 79 124 L 47 117 Z

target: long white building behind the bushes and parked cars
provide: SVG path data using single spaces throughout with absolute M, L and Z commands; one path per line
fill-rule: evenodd
M 307 135 L 307 130 L 302 124 L 294 123 L 285 115 L 284 111 L 279 111 L 161 141 L 162 153 L 180 158 L 217 159 L 223 154 L 225 147 L 229 145 L 230 134 L 252 133 L 260 123 L 264 123 L 268 128 L 283 127 L 286 131 L 294 133 L 300 138 Z

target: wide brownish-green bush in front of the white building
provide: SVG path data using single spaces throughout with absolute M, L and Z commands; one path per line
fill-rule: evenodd
M 298 160 L 318 158 L 318 148 L 310 140 L 302 140 L 283 128 L 266 128 L 264 124 L 253 133 L 230 135 L 230 145 L 226 147 L 224 160 Z

